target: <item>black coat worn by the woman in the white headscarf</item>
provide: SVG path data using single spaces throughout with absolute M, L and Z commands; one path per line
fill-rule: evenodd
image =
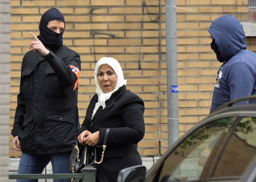
M 85 129 L 92 133 L 99 131 L 99 145 L 103 145 L 106 129 L 110 127 L 103 162 L 96 165 L 97 181 L 116 182 L 121 169 L 142 164 L 137 143 L 145 134 L 144 102 L 126 90 L 126 86 L 122 86 L 106 101 L 106 107 L 102 109 L 100 106 L 91 119 L 97 101 L 98 96 L 95 94 L 79 132 Z M 100 147 L 96 149 L 97 160 L 100 160 Z

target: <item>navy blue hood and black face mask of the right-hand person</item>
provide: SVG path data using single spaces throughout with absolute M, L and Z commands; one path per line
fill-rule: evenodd
M 208 31 L 213 38 L 211 47 L 220 62 L 228 61 L 240 50 L 247 48 L 243 26 L 233 15 L 217 18 Z

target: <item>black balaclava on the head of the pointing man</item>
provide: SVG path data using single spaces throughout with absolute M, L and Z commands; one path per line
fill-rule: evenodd
M 58 20 L 65 24 L 65 19 L 61 11 L 56 8 L 48 9 L 41 17 L 39 24 L 40 35 L 38 35 L 38 39 L 50 50 L 58 50 L 63 44 L 62 35 L 64 31 L 56 33 L 50 30 L 47 27 L 47 23 L 52 20 Z

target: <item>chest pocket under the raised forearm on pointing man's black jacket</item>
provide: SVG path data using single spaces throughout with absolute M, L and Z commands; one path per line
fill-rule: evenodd
M 45 70 L 45 96 L 46 97 L 65 97 L 67 96 L 66 87 L 58 79 L 52 67 Z

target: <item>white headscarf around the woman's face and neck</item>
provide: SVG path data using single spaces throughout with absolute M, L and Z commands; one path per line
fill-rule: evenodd
M 117 75 L 117 84 L 115 86 L 115 89 L 106 94 L 104 94 L 103 91 L 101 90 L 101 87 L 100 87 L 99 81 L 98 81 L 99 67 L 103 64 L 108 64 L 115 71 L 115 74 Z M 103 109 L 106 107 L 105 101 L 110 99 L 110 96 L 112 95 L 113 92 L 117 91 L 121 86 L 126 85 L 126 80 L 124 79 L 123 70 L 122 70 L 119 62 L 112 57 L 102 57 L 101 59 L 99 59 L 99 61 L 97 62 L 96 66 L 95 66 L 94 80 L 95 80 L 95 85 L 96 85 L 96 93 L 98 95 L 98 102 L 94 106 L 92 118 L 100 106 L 102 106 Z

